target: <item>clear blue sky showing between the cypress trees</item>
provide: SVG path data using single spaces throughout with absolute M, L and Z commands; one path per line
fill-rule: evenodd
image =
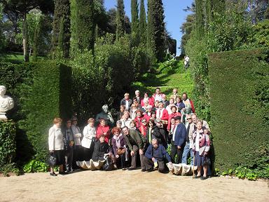
M 125 15 L 131 19 L 131 0 L 123 0 L 125 6 Z M 173 39 L 177 40 L 177 55 L 180 55 L 180 49 L 178 48 L 181 43 L 180 26 L 186 20 L 188 12 L 183 11 L 187 6 L 191 6 L 193 0 L 163 0 L 163 7 L 165 10 L 165 23 L 166 29 L 170 32 Z M 139 2 L 139 0 L 138 0 Z M 147 11 L 147 0 L 145 2 L 145 9 Z M 116 0 L 104 0 L 104 7 L 106 11 L 110 8 L 116 8 Z M 139 8 L 139 7 L 138 7 Z

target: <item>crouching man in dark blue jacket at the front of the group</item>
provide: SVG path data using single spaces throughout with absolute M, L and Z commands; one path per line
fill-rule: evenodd
M 157 139 L 152 139 L 151 144 L 149 145 L 148 149 L 146 149 L 146 154 L 143 158 L 146 172 L 151 172 L 153 171 L 153 168 L 158 166 L 159 172 L 164 173 L 165 159 L 167 159 L 170 165 L 172 165 L 171 158 L 168 152 L 166 152 L 165 147 L 163 147 L 162 144 L 158 144 Z

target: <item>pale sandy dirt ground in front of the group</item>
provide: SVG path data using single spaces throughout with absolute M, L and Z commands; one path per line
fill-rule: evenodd
M 268 182 L 140 170 L 0 177 L 0 201 L 269 201 Z

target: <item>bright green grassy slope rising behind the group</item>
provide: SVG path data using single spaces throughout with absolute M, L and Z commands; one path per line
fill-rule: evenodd
M 157 67 L 156 73 L 146 73 L 139 81 L 132 84 L 134 90 L 140 90 L 143 93 L 148 91 L 152 95 L 156 87 L 160 87 L 161 91 L 166 95 L 172 94 L 173 88 L 179 90 L 179 95 L 183 92 L 188 93 L 188 97 L 191 97 L 193 90 L 193 79 L 191 77 L 190 70 L 184 72 L 184 65 L 182 61 L 179 61 L 177 66 L 172 69 L 173 73 L 166 74 L 167 69 Z M 168 97 L 167 97 L 168 98 Z

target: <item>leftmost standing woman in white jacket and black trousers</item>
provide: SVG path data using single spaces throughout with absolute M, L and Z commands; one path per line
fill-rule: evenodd
M 53 120 L 53 127 L 48 130 L 48 149 L 50 150 L 50 154 L 56 158 L 56 165 L 60 166 L 60 175 L 64 175 L 64 141 L 61 130 L 62 119 L 55 118 Z M 57 176 L 54 173 L 53 166 L 50 166 L 50 175 Z

